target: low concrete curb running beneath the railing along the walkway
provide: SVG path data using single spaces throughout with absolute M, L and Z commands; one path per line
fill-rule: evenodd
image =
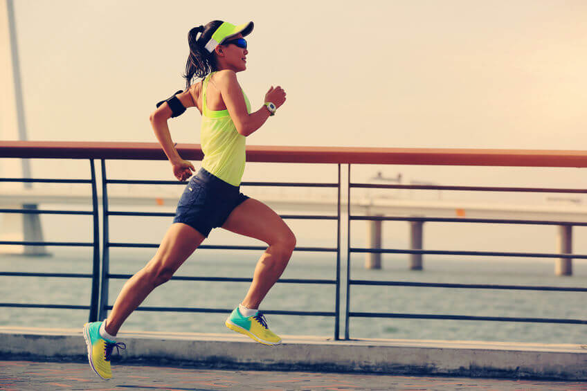
M 239 334 L 126 332 L 124 363 L 248 370 L 587 379 L 587 346 L 284 336 L 267 347 Z M 82 329 L 0 327 L 0 359 L 85 361 Z

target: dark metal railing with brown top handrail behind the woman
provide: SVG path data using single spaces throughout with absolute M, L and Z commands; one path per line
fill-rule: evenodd
M 184 158 L 201 160 L 202 154 L 199 145 L 180 145 L 179 152 Z M 114 159 L 130 160 L 163 160 L 165 156 L 156 143 L 53 143 L 53 142 L 3 142 L 0 144 L 0 158 L 84 158 L 91 164 L 91 180 L 84 179 L 14 179 L 4 178 L 0 181 L 19 182 L 54 182 L 54 183 L 91 183 L 92 187 L 92 211 L 71 210 L 28 210 L 28 209 L 2 209 L 3 213 L 56 213 L 79 214 L 93 216 L 93 242 L 26 242 L 3 241 L 0 244 L 14 245 L 46 245 L 46 246 L 93 246 L 93 273 L 69 274 L 69 273 L 9 273 L 0 272 L 5 276 L 42 276 L 55 278 L 92 278 L 92 290 L 89 306 L 72 306 L 66 304 L 17 304 L 0 303 L 0 307 L 42 307 L 58 309 L 89 309 L 89 320 L 97 320 L 106 316 L 111 309 L 108 304 L 109 280 L 127 279 L 130 275 L 109 273 L 110 248 L 154 248 L 159 244 L 154 243 L 121 243 L 111 242 L 109 239 L 110 216 L 164 216 L 171 217 L 172 213 L 159 212 L 116 212 L 109 210 L 108 185 L 124 183 L 178 185 L 178 181 L 127 181 L 108 179 L 106 161 Z M 100 160 L 102 174 L 102 271 L 99 268 L 99 228 L 98 228 L 98 192 L 96 190 L 96 173 L 94 159 Z M 422 313 L 365 313 L 351 311 L 350 295 L 351 286 L 404 286 L 418 288 L 451 288 L 451 289 L 512 289 L 532 291 L 575 291 L 585 292 L 581 287 L 536 287 L 518 285 L 492 285 L 492 284 L 439 284 L 425 282 L 402 281 L 378 281 L 378 280 L 354 280 L 351 277 L 352 253 L 400 253 L 400 254 L 428 254 L 428 255 L 485 255 L 508 257 L 557 257 L 586 259 L 587 255 L 565 255 L 550 253 L 504 253 L 492 251 L 433 251 L 433 250 L 408 250 L 395 248 L 356 248 L 351 246 L 351 222 L 358 220 L 379 221 L 428 221 L 442 223 L 494 223 L 494 224 L 557 224 L 572 226 L 587 226 L 587 223 L 573 221 L 543 221 L 543 220 L 509 220 L 509 219 L 466 219 L 466 218 L 434 218 L 434 217 L 378 217 L 353 215 L 350 209 L 351 190 L 353 188 L 386 188 L 386 189 L 410 189 L 410 190 L 470 190 L 470 191 L 503 191 L 503 192 L 568 192 L 587 194 L 587 190 L 579 189 L 544 189 L 544 188 L 487 188 L 470 186 L 431 186 L 431 185 L 372 185 L 368 183 L 352 183 L 350 174 L 352 165 L 357 164 L 402 164 L 402 165 L 486 165 L 509 167 L 587 167 L 587 152 L 582 151 L 525 151 L 525 150 L 480 150 L 480 149 L 393 149 L 393 148 L 329 148 L 329 147 L 248 147 L 247 161 L 265 163 L 327 163 L 338 167 L 337 183 L 283 183 L 283 182 L 249 182 L 242 185 L 251 186 L 287 186 L 287 187 L 318 187 L 337 188 L 338 210 L 336 215 L 282 215 L 284 219 L 316 219 L 336 220 L 337 236 L 336 248 L 323 247 L 297 247 L 296 251 L 319 251 L 336 253 L 336 279 L 280 279 L 280 283 L 302 284 L 334 284 L 336 294 L 334 297 L 334 311 L 280 311 L 269 310 L 267 313 L 276 313 L 292 316 L 332 316 L 334 317 L 334 337 L 339 338 L 338 325 L 340 323 L 341 302 L 345 302 L 345 338 L 350 338 L 350 318 L 417 318 L 417 319 L 444 319 L 444 320 L 490 320 L 506 322 L 550 322 L 587 324 L 587 320 L 579 319 L 555 319 L 555 318 L 516 318 L 516 317 L 491 317 L 491 316 L 460 316 L 437 315 Z M 347 181 L 344 185 L 341 179 L 341 168 L 347 167 Z M 347 257 L 345 291 L 341 292 L 341 192 L 347 190 Z M 200 248 L 223 250 L 264 250 L 262 246 L 200 246 Z M 222 278 L 222 277 L 197 277 L 175 276 L 172 280 L 189 281 L 219 281 L 219 282 L 250 282 L 250 278 Z M 101 286 L 98 295 L 98 286 Z M 344 297 L 343 297 L 344 296 Z M 230 312 L 231 309 L 209 308 L 178 308 L 178 307 L 139 307 L 139 311 L 183 311 L 183 312 Z

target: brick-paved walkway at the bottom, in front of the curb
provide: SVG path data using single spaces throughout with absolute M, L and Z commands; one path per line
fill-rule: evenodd
M 0 361 L 0 390 L 586 390 L 587 382 L 201 370 L 114 365 L 103 381 L 83 363 Z

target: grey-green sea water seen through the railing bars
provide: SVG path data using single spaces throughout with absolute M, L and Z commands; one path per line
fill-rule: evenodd
M 89 249 L 54 249 L 51 257 L 0 256 L 1 271 L 91 273 Z M 133 274 L 154 249 L 114 248 L 111 273 Z M 260 251 L 200 249 L 177 275 L 252 278 Z M 363 268 L 363 257 L 352 256 L 351 276 L 358 280 L 394 280 L 461 284 L 518 284 L 528 286 L 587 286 L 587 264 L 576 262 L 575 275 L 554 276 L 552 262 L 516 259 L 457 260 L 429 256 L 424 271 L 408 270 L 407 258 L 383 257 L 383 269 Z M 344 261 L 344 259 L 343 259 Z M 343 268 L 344 272 L 344 268 Z M 344 277 L 344 273 L 343 273 Z M 336 279 L 336 255 L 294 253 L 282 278 Z M 341 287 L 344 298 L 345 287 Z M 114 303 L 125 280 L 111 280 L 109 304 Z M 248 282 L 195 282 L 171 280 L 155 289 L 143 306 L 198 307 L 230 310 L 249 287 Z M 89 305 L 88 278 L 37 278 L 0 276 L 0 302 Z M 335 287 L 331 284 L 276 284 L 261 309 L 334 311 Z M 433 287 L 352 286 L 350 311 L 465 316 L 587 319 L 586 293 Z M 341 336 L 344 327 L 341 303 Z M 89 311 L 72 309 L 1 308 L 0 325 L 28 327 L 81 327 Z M 278 334 L 334 336 L 334 318 L 325 316 L 267 316 Z M 123 330 L 230 332 L 224 313 L 135 311 Z M 471 320 L 420 320 L 351 318 L 351 338 L 410 338 L 434 340 L 487 340 L 532 343 L 585 343 L 585 325 Z

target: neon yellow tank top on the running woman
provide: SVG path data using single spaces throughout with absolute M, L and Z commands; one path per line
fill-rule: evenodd
M 214 72 L 213 72 L 214 73 Z M 206 104 L 206 89 L 210 77 L 206 76 L 202 84 L 202 122 L 200 140 L 204 159 L 201 166 L 204 170 L 233 186 L 240 185 L 245 163 L 245 136 L 237 132 L 237 128 L 225 110 L 210 110 Z M 251 103 L 244 91 L 246 111 L 251 113 Z

